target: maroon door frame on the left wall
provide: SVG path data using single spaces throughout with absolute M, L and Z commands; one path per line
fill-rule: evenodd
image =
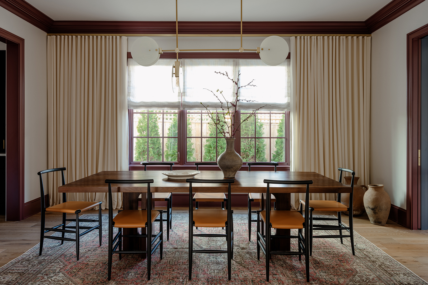
M 6 220 L 24 219 L 24 39 L 0 28 L 6 43 Z

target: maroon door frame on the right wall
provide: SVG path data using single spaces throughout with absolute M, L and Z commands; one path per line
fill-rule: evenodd
M 407 34 L 407 227 L 420 229 L 421 168 L 421 38 L 428 24 Z

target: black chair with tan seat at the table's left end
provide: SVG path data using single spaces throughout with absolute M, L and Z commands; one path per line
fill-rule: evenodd
M 79 260 L 80 237 L 82 235 L 86 235 L 87 233 L 92 232 L 94 229 L 98 229 L 98 232 L 99 232 L 98 238 L 99 238 L 100 247 L 101 247 L 101 235 L 102 235 L 101 203 L 102 202 L 101 201 L 100 202 L 67 201 L 67 197 L 65 193 L 62 193 L 62 203 L 52 207 L 45 208 L 45 190 L 43 188 L 42 174 L 61 171 L 62 185 L 65 185 L 64 170 L 65 170 L 65 167 L 60 167 L 60 168 L 42 170 L 37 173 L 37 175 L 39 175 L 39 180 L 40 180 L 40 202 L 41 202 L 40 214 L 42 217 L 41 226 L 40 226 L 39 256 L 42 255 L 44 239 L 49 238 L 49 239 L 59 240 L 61 241 L 61 244 L 64 244 L 64 241 L 74 241 L 76 243 L 76 258 L 77 260 Z M 80 213 L 85 212 L 86 210 L 95 208 L 96 206 L 99 206 L 98 220 L 79 219 Z M 53 226 L 52 228 L 46 228 L 45 227 L 46 212 L 62 213 L 62 223 L 57 226 Z M 76 218 L 67 219 L 67 214 L 75 214 Z M 67 221 L 76 222 L 76 226 L 67 226 L 65 224 Z M 98 223 L 98 225 L 96 226 L 80 225 L 80 223 L 94 223 L 94 222 Z M 70 229 L 74 229 L 74 230 L 70 230 Z M 86 231 L 80 232 L 81 229 L 86 229 Z M 45 235 L 45 233 L 47 232 L 62 232 L 62 235 L 60 237 Z M 66 233 L 74 234 L 75 238 L 65 238 Z

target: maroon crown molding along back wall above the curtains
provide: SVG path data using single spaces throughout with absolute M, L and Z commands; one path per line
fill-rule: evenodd
M 369 34 L 364 22 L 242 22 L 243 34 Z M 180 34 L 240 34 L 240 22 L 178 22 Z M 175 34 L 175 22 L 54 21 L 52 34 Z

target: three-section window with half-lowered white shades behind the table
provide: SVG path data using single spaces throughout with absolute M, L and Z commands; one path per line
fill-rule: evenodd
M 289 61 L 268 67 L 256 59 L 183 59 L 181 94 L 172 92 L 173 61 L 160 59 L 152 67 L 142 67 L 128 60 L 131 165 L 141 161 L 193 165 L 217 160 L 226 142 L 209 124 L 200 102 L 218 107 L 215 97 L 204 88 L 222 88 L 233 98 L 235 87 L 214 71 L 228 71 L 233 78 L 239 72 L 240 82 L 250 81 L 252 76 L 256 79 L 259 89 L 242 88 L 239 95 L 258 102 L 240 102 L 238 120 L 250 114 L 247 110 L 267 105 L 245 121 L 235 136 L 235 150 L 244 163 L 276 161 L 289 165 Z

